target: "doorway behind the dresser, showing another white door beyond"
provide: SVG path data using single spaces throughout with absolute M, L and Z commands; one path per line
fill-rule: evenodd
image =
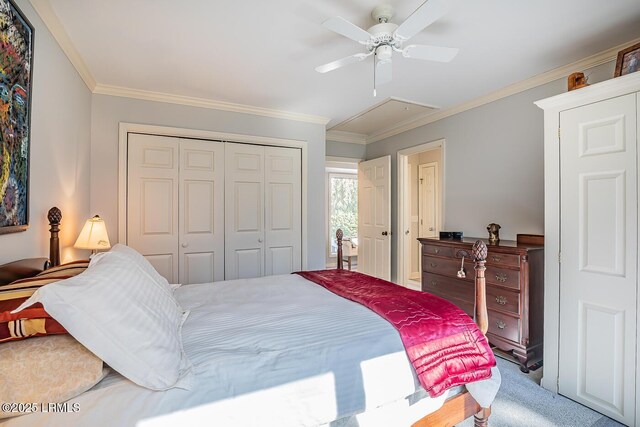
M 398 151 L 398 284 L 420 290 L 418 237 L 437 237 L 444 200 L 444 140 Z

